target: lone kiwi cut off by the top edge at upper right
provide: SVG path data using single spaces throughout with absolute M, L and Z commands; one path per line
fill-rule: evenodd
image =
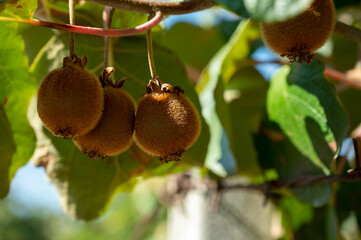
M 265 44 L 291 62 L 310 63 L 313 52 L 322 47 L 335 26 L 332 0 L 314 0 L 300 15 L 284 22 L 261 23 Z

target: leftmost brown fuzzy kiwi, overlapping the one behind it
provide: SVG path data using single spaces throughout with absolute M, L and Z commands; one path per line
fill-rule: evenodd
M 92 130 L 103 112 L 99 78 L 85 69 L 87 58 L 65 57 L 63 67 L 48 73 L 38 90 L 40 119 L 54 135 L 72 139 Z

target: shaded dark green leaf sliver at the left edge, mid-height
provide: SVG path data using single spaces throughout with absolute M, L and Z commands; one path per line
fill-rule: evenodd
M 15 142 L 10 123 L 6 117 L 4 108 L 0 105 L 0 199 L 6 197 L 9 192 L 9 170 L 11 158 L 16 151 Z

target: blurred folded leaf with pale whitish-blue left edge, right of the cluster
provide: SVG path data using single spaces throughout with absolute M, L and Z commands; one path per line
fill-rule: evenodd
M 258 98 L 251 111 L 245 106 L 256 94 L 267 90 L 267 83 L 246 60 L 251 54 L 250 43 L 258 37 L 257 25 L 242 21 L 198 82 L 203 115 L 211 126 L 212 150 L 206 166 L 219 176 L 258 172 L 251 134 L 257 128 L 263 100 Z

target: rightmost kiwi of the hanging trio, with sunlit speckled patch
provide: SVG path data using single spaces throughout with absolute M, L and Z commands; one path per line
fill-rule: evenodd
M 196 108 L 183 90 L 150 80 L 138 102 L 134 139 L 146 153 L 161 161 L 178 161 L 200 133 Z

